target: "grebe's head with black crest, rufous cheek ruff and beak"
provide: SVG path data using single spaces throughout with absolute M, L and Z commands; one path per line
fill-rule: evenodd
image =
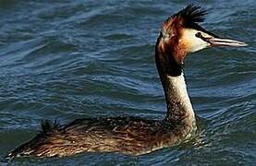
M 204 30 L 198 24 L 203 21 L 205 10 L 200 6 L 189 5 L 163 23 L 158 38 L 160 53 L 172 54 L 177 64 L 182 64 L 187 53 L 200 51 L 213 46 L 245 46 L 241 41 L 219 38 Z

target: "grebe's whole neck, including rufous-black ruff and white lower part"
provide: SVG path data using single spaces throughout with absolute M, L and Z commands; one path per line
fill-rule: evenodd
M 187 131 L 196 128 L 196 118 L 182 70 L 186 52 L 181 52 L 177 46 L 175 40 L 165 41 L 160 33 L 155 46 L 155 64 L 165 91 L 165 121 L 183 126 L 186 129 L 181 130 Z

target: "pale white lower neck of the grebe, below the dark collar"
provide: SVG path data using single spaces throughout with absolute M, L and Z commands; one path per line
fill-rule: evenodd
M 165 76 L 166 121 L 195 127 L 196 119 L 183 73 L 177 77 Z

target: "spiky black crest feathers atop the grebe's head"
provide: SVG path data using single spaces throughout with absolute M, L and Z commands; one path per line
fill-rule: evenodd
M 202 10 L 201 6 L 193 6 L 190 4 L 183 10 L 179 11 L 175 16 L 183 20 L 184 25 L 191 25 L 197 22 L 203 22 L 206 10 Z

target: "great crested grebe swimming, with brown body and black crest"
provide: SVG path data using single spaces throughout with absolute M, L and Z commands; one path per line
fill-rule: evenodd
M 162 121 L 138 117 L 77 119 L 68 125 L 42 123 L 42 131 L 6 157 L 63 157 L 81 152 L 149 153 L 177 145 L 197 129 L 186 83 L 183 60 L 211 46 L 245 46 L 218 38 L 202 29 L 205 10 L 189 5 L 163 24 L 155 45 L 155 63 L 165 91 L 167 113 Z

